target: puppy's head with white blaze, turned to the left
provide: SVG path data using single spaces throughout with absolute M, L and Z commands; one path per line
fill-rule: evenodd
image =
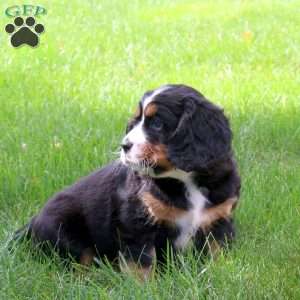
M 231 154 L 231 130 L 198 91 L 165 85 L 144 94 L 121 146 L 121 161 L 141 172 L 199 171 Z

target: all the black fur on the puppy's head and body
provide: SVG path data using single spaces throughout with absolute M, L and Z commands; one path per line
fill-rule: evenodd
M 193 172 L 194 182 L 207 191 L 212 206 L 238 196 L 240 179 L 223 111 L 184 85 L 170 85 L 155 97 L 155 103 L 157 113 L 144 124 L 149 140 L 167 146 L 168 159 L 176 168 Z M 141 115 L 136 116 L 127 132 L 140 119 Z M 160 124 L 153 123 L 155 119 L 163 122 L 161 130 L 155 128 Z M 164 169 L 157 166 L 154 171 Z M 125 259 L 149 266 L 151 249 L 155 247 L 157 258 L 163 260 L 167 241 L 172 245 L 179 232 L 153 222 L 139 198 L 145 188 L 170 206 L 190 207 L 179 180 L 151 178 L 114 162 L 49 199 L 29 223 L 29 235 L 38 243 L 50 242 L 63 257 L 70 254 L 78 261 L 85 249 L 93 248 L 100 258 L 113 261 L 121 252 Z M 224 244 L 234 236 L 232 221 L 220 220 L 212 225 L 211 232 Z M 207 234 L 199 230 L 197 248 L 204 246 Z

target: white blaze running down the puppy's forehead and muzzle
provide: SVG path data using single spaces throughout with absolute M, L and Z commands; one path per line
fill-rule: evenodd
M 166 89 L 168 89 L 168 86 L 161 87 L 161 88 L 157 89 L 156 91 L 154 91 L 150 96 L 148 96 L 144 100 L 143 107 L 142 107 L 143 111 L 142 111 L 141 120 L 123 138 L 122 143 L 132 144 L 131 149 L 127 153 L 125 153 L 124 150 L 121 151 L 121 161 L 124 164 L 127 164 L 127 163 L 138 164 L 141 161 L 141 158 L 143 156 L 143 147 L 147 143 L 147 136 L 143 129 L 143 124 L 144 124 L 144 120 L 145 120 L 144 111 L 145 111 L 146 107 L 148 106 L 148 104 L 151 103 L 158 94 L 165 91 Z

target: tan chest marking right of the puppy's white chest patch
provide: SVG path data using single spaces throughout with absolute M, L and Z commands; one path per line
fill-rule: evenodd
M 236 206 L 237 197 L 229 198 L 223 203 L 205 208 L 203 211 L 203 220 L 201 222 L 201 228 L 207 230 L 214 222 L 220 219 L 229 218 L 233 208 Z

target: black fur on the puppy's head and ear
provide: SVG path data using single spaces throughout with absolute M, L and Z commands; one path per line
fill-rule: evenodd
M 166 98 L 172 101 L 165 101 Z M 165 109 L 159 113 L 169 131 L 163 133 L 161 140 L 169 145 L 169 158 L 177 168 L 186 172 L 206 171 L 216 160 L 232 156 L 227 118 L 198 91 L 174 85 L 158 95 L 155 102 Z

